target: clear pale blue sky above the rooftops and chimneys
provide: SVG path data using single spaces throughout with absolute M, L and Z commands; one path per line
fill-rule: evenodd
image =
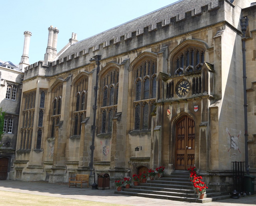
M 44 60 L 48 27 L 59 30 L 57 52 L 77 33 L 78 41 L 148 14 L 177 0 L 1 1 L 0 60 L 19 64 L 24 31 L 30 31 L 29 63 Z

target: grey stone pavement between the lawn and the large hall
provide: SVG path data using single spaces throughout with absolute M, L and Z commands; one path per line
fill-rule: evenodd
M 48 183 L 35 183 L 25 181 L 0 180 L 0 191 L 20 192 L 31 195 L 42 195 L 49 197 L 88 200 L 94 202 L 106 202 L 126 205 L 201 205 L 201 206 L 256 206 L 256 194 L 239 199 L 226 199 L 208 203 L 179 202 L 173 200 L 162 200 L 128 195 L 114 194 L 114 189 L 92 190 L 91 187 L 82 189 L 80 187 L 68 187 L 68 185 L 56 185 Z M 1 196 L 0 196 L 1 202 Z

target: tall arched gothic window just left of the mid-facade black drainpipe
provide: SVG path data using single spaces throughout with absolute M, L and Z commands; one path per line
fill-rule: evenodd
M 81 135 L 81 122 L 86 117 L 86 101 L 87 101 L 87 91 L 88 91 L 88 77 L 82 76 L 75 83 L 74 96 L 76 103 L 74 105 L 73 113 L 73 134 L 72 135 Z

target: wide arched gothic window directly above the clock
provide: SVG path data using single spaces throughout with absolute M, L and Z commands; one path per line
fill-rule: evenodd
M 204 63 L 204 50 L 196 47 L 187 47 L 173 57 L 172 75 L 182 75 L 200 70 Z

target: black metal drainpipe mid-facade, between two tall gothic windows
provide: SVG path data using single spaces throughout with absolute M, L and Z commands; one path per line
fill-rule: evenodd
M 96 83 L 95 83 L 95 87 L 94 87 L 94 105 L 93 105 L 93 124 L 92 124 L 92 145 L 91 145 L 91 172 L 90 175 L 92 175 L 92 168 L 93 168 L 93 154 L 94 154 L 94 139 L 95 139 L 95 130 L 96 130 L 96 111 L 97 111 L 97 94 L 98 94 L 98 81 L 99 81 L 99 71 L 100 71 L 100 57 L 101 55 L 95 55 L 93 56 L 94 59 L 91 59 L 90 61 L 95 60 L 96 64 L 97 64 L 97 73 L 96 73 Z M 95 176 L 95 174 L 94 174 Z

